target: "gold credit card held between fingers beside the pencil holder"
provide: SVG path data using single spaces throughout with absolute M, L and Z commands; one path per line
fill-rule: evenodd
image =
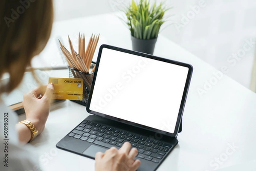
M 49 83 L 54 84 L 52 99 L 83 99 L 83 79 L 81 78 L 49 78 Z

